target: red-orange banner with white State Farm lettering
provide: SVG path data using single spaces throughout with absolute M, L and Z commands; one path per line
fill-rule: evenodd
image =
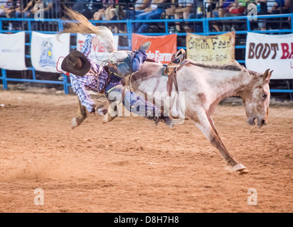
M 139 45 L 151 41 L 151 47 L 146 52 L 147 57 L 162 63 L 170 63 L 172 55 L 177 52 L 177 35 L 139 35 L 132 34 L 132 50 L 138 49 Z

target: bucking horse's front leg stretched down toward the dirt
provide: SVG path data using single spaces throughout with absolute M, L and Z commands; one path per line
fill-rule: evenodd
M 244 165 L 238 162 L 228 150 L 225 148 L 218 132 L 215 130 L 215 125 L 211 116 L 206 115 L 206 111 L 199 111 L 198 113 L 188 114 L 188 118 L 196 123 L 196 126 L 201 130 L 203 135 L 210 140 L 211 144 L 217 148 L 220 154 L 223 156 L 228 166 L 232 167 L 232 170 L 238 171 L 239 173 L 246 173 L 247 170 Z

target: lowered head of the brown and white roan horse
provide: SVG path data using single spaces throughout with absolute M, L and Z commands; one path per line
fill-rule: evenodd
M 243 92 L 243 102 L 247 116 L 247 123 L 251 126 L 262 127 L 267 124 L 270 104 L 270 77 L 272 71 L 266 70 L 261 76 L 256 76 Z

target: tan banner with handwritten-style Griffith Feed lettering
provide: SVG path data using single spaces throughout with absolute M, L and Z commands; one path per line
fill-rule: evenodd
M 235 32 L 222 35 L 186 35 L 186 55 L 195 62 L 225 65 L 235 60 Z

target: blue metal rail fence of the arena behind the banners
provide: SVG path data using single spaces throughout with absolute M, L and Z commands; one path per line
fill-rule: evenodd
M 262 16 L 257 16 L 257 18 L 267 18 L 267 19 L 275 19 L 279 18 L 279 20 L 282 20 L 282 18 L 289 18 L 291 25 L 293 25 L 293 13 L 287 13 L 287 14 L 279 14 L 279 15 L 262 15 Z M 191 18 L 191 19 L 158 19 L 158 20 L 144 20 L 144 21 L 139 21 L 139 20 L 123 20 L 123 21 L 90 21 L 91 23 L 95 25 L 105 25 L 107 26 L 108 23 L 122 23 L 126 25 L 127 28 L 127 33 L 117 33 L 114 35 L 120 35 L 128 38 L 128 45 L 126 46 L 119 46 L 119 50 L 132 50 L 132 33 L 134 33 L 132 25 L 133 23 L 139 23 L 139 22 L 144 22 L 144 23 L 151 23 L 155 24 L 156 26 L 159 26 L 163 31 L 159 33 L 142 33 L 142 35 L 169 35 L 169 25 L 171 23 L 175 22 L 181 22 L 181 23 L 191 23 L 193 26 L 201 26 L 202 32 L 196 33 L 198 35 L 215 35 L 215 34 L 220 34 L 220 33 L 225 33 L 227 31 L 223 32 L 215 32 L 211 30 L 211 24 L 214 22 L 220 21 L 222 23 L 245 23 L 245 29 L 235 31 L 236 35 L 239 34 L 247 34 L 247 32 L 255 32 L 255 33 L 269 33 L 269 34 L 284 34 L 284 33 L 293 33 L 293 26 L 289 26 L 287 28 L 283 29 L 271 29 L 267 31 L 255 31 L 252 30 L 252 23 L 257 23 L 257 21 L 251 20 L 250 16 L 233 16 L 233 17 L 222 17 L 222 18 Z M 29 40 L 26 42 L 26 46 L 30 48 L 31 45 L 31 33 L 33 31 L 32 29 L 32 23 L 36 23 L 36 21 L 33 18 L 0 18 L 0 33 L 17 33 L 21 30 L 8 30 L 7 28 L 4 28 L 4 23 L 8 22 L 18 22 L 18 23 L 26 23 L 26 30 L 25 33 L 28 33 L 29 35 Z M 275 21 L 276 22 L 276 21 Z M 38 22 L 40 23 L 40 22 Z M 40 33 L 58 33 L 58 31 L 63 31 L 63 25 L 64 23 L 68 23 L 68 21 L 64 21 L 62 19 L 43 19 L 41 22 L 42 24 L 48 23 L 49 26 L 52 26 L 55 28 L 55 31 L 38 31 Z M 22 26 L 24 28 L 24 26 Z M 72 36 L 76 34 L 71 34 Z M 186 36 L 186 33 L 177 33 L 178 36 Z M 243 45 L 235 45 L 235 49 L 242 49 L 245 50 L 245 43 Z M 184 46 L 178 46 L 178 49 L 183 48 L 186 49 Z M 75 50 L 76 45 L 70 45 L 70 49 Z M 29 59 L 31 56 L 30 55 L 25 55 L 27 59 Z M 245 64 L 245 60 L 243 59 L 236 59 L 238 62 Z M 1 69 L 1 81 L 3 84 L 4 89 L 8 89 L 8 82 L 32 82 L 32 83 L 42 83 L 42 84 L 61 84 L 63 85 L 63 89 L 65 94 L 68 94 L 68 88 L 70 87 L 70 82 L 68 81 L 68 77 L 63 75 L 63 77 L 60 77 L 62 79 L 60 80 L 45 80 L 45 79 L 37 79 L 36 78 L 36 70 L 33 67 L 28 67 L 28 70 L 31 70 L 32 72 L 32 79 L 19 79 L 17 78 L 11 78 L 9 77 L 8 73 L 6 70 Z M 21 72 L 20 72 L 21 74 Z M 21 76 L 20 76 L 21 77 Z M 289 88 L 289 83 L 288 83 L 288 88 Z M 293 94 L 293 89 L 271 89 L 271 92 L 277 92 L 277 93 L 290 93 L 290 95 Z

